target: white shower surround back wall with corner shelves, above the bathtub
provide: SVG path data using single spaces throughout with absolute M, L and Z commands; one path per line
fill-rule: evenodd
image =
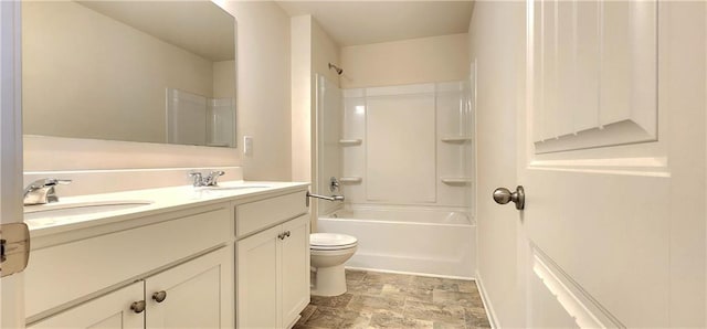
M 473 198 L 467 82 L 344 91 L 342 187 L 354 206 L 453 206 Z

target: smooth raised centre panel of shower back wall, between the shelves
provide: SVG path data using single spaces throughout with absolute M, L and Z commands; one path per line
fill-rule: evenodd
M 368 201 L 434 203 L 434 93 L 376 96 L 367 102 Z

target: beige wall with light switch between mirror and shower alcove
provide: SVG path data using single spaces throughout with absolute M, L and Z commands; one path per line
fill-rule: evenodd
M 243 136 L 253 137 L 253 153 L 242 156 L 244 178 L 288 181 L 289 18 L 271 1 L 229 1 L 223 7 L 239 22 L 239 147 Z

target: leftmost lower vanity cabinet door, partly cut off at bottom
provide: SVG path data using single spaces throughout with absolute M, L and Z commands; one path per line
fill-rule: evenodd
M 136 314 L 130 309 L 130 305 L 143 300 L 144 291 L 144 282 L 138 282 L 32 323 L 28 328 L 143 328 L 145 311 Z

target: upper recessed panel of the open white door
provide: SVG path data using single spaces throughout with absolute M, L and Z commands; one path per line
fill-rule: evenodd
M 536 1 L 535 152 L 657 138 L 657 3 Z

